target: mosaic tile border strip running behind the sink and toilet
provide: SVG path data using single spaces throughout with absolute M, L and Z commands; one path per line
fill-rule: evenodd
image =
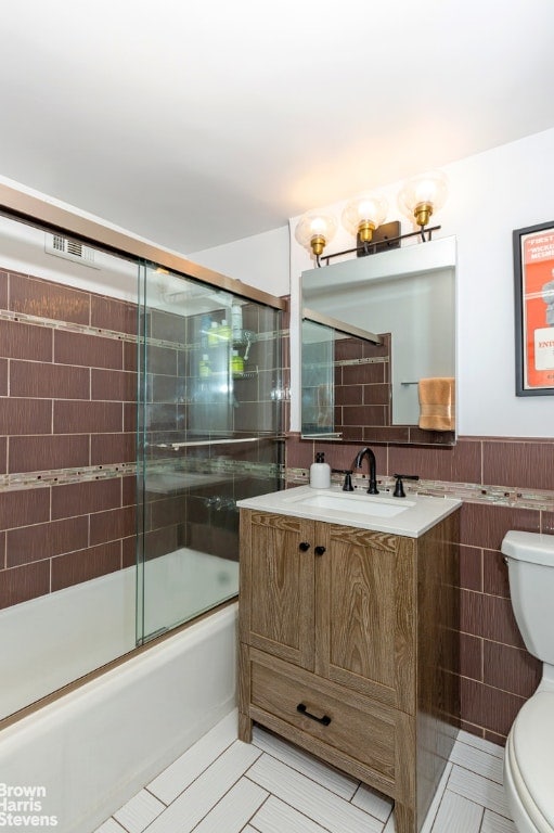
M 309 482 L 307 469 L 287 469 L 286 483 L 288 486 L 304 486 Z M 340 485 L 342 475 L 332 475 L 332 483 Z M 352 484 L 362 489 L 368 478 L 360 474 L 352 474 Z M 379 485 L 390 491 L 395 488 L 395 478 L 385 476 L 378 478 Z M 407 495 L 430 495 L 439 498 L 460 498 L 471 503 L 488 503 L 513 509 L 534 509 L 543 512 L 554 512 L 554 491 L 516 489 L 503 486 L 481 486 L 476 483 L 450 483 L 448 480 L 424 480 L 413 485 L 404 480 Z

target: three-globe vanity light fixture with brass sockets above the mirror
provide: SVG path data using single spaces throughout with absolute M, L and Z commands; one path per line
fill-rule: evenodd
M 387 246 L 400 245 L 400 241 L 405 238 L 421 236 L 422 242 L 431 239 L 431 232 L 440 229 L 440 226 L 429 227 L 428 222 L 431 215 L 441 208 L 448 196 L 448 184 L 445 174 L 440 170 L 421 174 L 413 179 L 407 180 L 398 194 L 398 206 L 402 214 L 418 226 L 417 231 L 408 234 L 397 234 L 389 236 L 390 230 L 387 228 L 383 240 Z M 373 232 L 382 226 L 386 219 L 388 210 L 385 197 L 363 193 L 351 200 L 345 206 L 343 212 L 343 226 L 351 234 L 357 235 L 358 245 L 356 248 L 347 248 L 343 252 L 335 252 L 332 255 L 324 255 L 326 264 L 333 257 L 349 255 L 353 252 L 358 256 L 371 255 L 379 251 L 383 241 L 373 242 Z M 400 223 L 389 223 L 390 227 Z M 336 232 L 336 220 L 332 215 L 306 214 L 300 218 L 295 230 L 295 238 L 305 248 L 315 257 L 318 266 L 321 266 L 320 257 L 326 244 L 332 240 Z M 394 232 L 392 232 L 394 233 Z

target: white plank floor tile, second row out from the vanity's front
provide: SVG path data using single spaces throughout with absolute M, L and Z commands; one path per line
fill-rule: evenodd
M 256 781 L 331 833 L 382 833 L 383 824 L 266 753 L 248 770 Z

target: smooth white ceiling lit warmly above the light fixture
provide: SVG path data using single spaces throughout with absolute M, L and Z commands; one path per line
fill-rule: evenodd
M 552 0 L 17 0 L 1 30 L 0 175 L 183 254 L 554 126 Z

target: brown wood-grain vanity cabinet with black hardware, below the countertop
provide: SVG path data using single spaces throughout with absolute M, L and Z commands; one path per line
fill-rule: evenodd
M 240 738 L 255 720 L 390 796 L 397 833 L 458 726 L 458 515 L 408 538 L 241 510 Z

